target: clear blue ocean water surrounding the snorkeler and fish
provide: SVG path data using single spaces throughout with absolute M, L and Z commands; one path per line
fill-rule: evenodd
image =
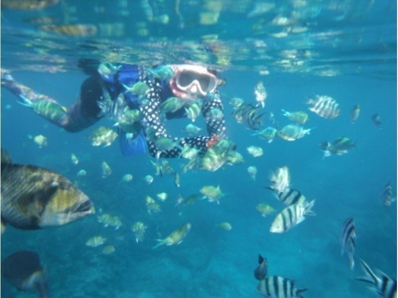
M 8 227 L 1 236 L 1 259 L 16 250 L 40 255 L 48 266 L 50 297 L 260 297 L 253 276 L 258 254 L 268 259 L 268 275 L 295 280 L 299 289 L 308 288 L 307 298 L 376 297 L 355 280 L 363 275 L 359 259 L 397 277 L 397 202 L 385 206 L 381 200 L 388 181 L 397 194 L 395 1 L 65 0 L 37 10 L 9 9 L 8 2 L 1 1 L 1 68 L 18 82 L 69 107 L 87 77 L 76 66 L 82 57 L 148 66 L 208 65 L 226 81 L 219 91 L 227 133 L 245 159 L 214 172 L 187 173 L 181 170 L 186 160 L 169 159 L 181 176 L 181 187 L 176 187 L 173 175 L 155 175 L 149 154 L 124 157 L 117 141 L 105 148 L 91 146 L 89 136 L 100 126 L 110 128 L 109 119 L 68 133 L 1 88 L 1 147 L 16 163 L 47 167 L 76 181 L 97 210 L 62 227 Z M 51 27 L 75 24 L 97 31 L 81 27 L 69 35 Z M 254 104 L 259 81 L 268 95 L 264 125 L 271 125 L 270 113 L 282 127 L 290 121 L 281 109 L 302 110 L 309 115 L 305 127 L 314 128 L 310 135 L 268 144 L 233 119 L 229 100 L 240 97 Z M 324 119 L 308 111 L 305 102 L 315 94 L 333 97 L 341 115 Z M 361 113 L 352 124 L 350 113 L 357 103 Z M 382 121 L 380 129 L 371 121 L 375 113 Z M 183 136 L 188 123 L 171 120 L 167 129 Z M 202 117 L 195 124 L 204 129 Z M 37 135 L 47 138 L 46 147 L 28 137 Z M 356 148 L 322 158 L 318 144 L 342 136 Z M 264 154 L 250 155 L 246 148 L 251 145 Z M 71 162 L 72 153 L 79 164 Z M 112 169 L 106 178 L 102 161 Z M 247 173 L 250 165 L 258 169 L 255 181 Z M 285 165 L 292 187 L 315 199 L 316 216 L 307 216 L 285 234 L 274 234 L 269 229 L 276 213 L 264 218 L 255 207 L 265 202 L 282 211 L 282 203 L 264 187 L 270 184 L 270 172 Z M 80 169 L 87 175 L 77 176 Z M 126 173 L 133 175 L 132 181 L 121 182 Z M 144 181 L 148 174 L 154 176 L 150 185 Z M 219 205 L 199 200 L 176 206 L 180 194 L 186 198 L 204 185 L 220 185 L 225 196 Z M 144 198 L 160 192 L 169 199 L 160 202 L 162 212 L 150 215 Z M 97 220 L 101 212 L 118 216 L 123 225 L 117 230 L 104 227 Z M 357 228 L 353 270 L 348 257 L 340 255 L 339 237 L 348 217 Z M 135 221 L 148 226 L 141 243 L 131 230 Z M 230 231 L 215 227 L 224 221 L 232 225 Z M 155 239 L 187 222 L 192 229 L 181 244 L 152 249 Z M 104 245 L 86 246 L 96 235 L 115 251 L 107 255 Z M 1 280 L 1 296 L 33 294 L 17 292 Z

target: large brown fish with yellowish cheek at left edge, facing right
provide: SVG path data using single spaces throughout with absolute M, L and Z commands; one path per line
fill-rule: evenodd
M 94 213 L 89 197 L 62 175 L 11 163 L 1 150 L 1 226 L 19 229 L 60 226 Z

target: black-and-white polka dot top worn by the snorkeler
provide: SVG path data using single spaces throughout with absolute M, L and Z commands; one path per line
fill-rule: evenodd
M 160 104 L 165 101 L 168 97 L 174 96 L 169 92 L 165 92 L 166 88 L 169 87 L 169 82 L 161 82 L 158 79 L 150 79 L 146 76 L 146 71 L 144 67 L 138 66 L 138 77 L 134 81 L 125 82 L 125 85 L 131 86 L 136 81 L 141 81 L 149 86 L 149 91 L 146 93 L 145 97 L 147 100 L 140 101 L 139 110 L 141 112 L 141 125 L 143 130 L 147 128 L 152 128 L 155 131 L 157 137 L 167 137 L 172 138 L 166 132 L 164 123 L 162 123 L 164 117 L 161 117 Z M 126 96 L 126 94 L 125 94 Z M 190 147 L 199 149 L 199 154 L 203 154 L 207 149 L 206 143 L 210 141 L 211 137 L 217 136 L 219 138 L 226 138 L 225 135 L 225 120 L 224 117 L 219 119 L 212 119 L 211 117 L 206 117 L 212 109 L 219 109 L 223 112 L 222 101 L 219 97 L 213 97 L 211 100 L 205 100 L 201 112 L 206 120 L 207 133 L 208 136 L 197 136 L 190 138 L 172 138 L 175 141 L 179 140 L 176 146 L 172 149 L 162 151 L 158 149 L 154 142 L 147 139 L 148 149 L 152 156 L 159 157 L 178 157 L 181 154 L 181 148 L 188 144 Z M 184 110 L 184 108 L 182 108 Z M 175 112 L 176 115 L 182 115 L 183 111 Z M 179 116 L 177 116 L 179 117 Z M 172 117 L 173 118 L 173 117 Z

